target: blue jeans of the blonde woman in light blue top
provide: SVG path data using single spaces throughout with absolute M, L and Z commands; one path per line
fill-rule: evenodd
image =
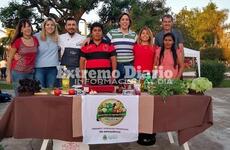
M 57 77 L 57 68 L 35 68 L 35 79 L 39 80 L 43 88 L 53 88 Z

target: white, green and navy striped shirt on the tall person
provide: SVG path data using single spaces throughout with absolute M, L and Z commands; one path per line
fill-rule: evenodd
M 134 60 L 133 45 L 136 38 L 137 34 L 131 30 L 128 34 L 123 34 L 119 28 L 107 33 L 106 39 L 111 41 L 117 52 L 117 62 L 125 63 Z

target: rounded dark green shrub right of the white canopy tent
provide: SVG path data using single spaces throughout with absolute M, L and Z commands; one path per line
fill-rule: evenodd
M 201 76 L 208 78 L 216 87 L 224 79 L 225 65 L 218 61 L 206 60 L 201 62 Z

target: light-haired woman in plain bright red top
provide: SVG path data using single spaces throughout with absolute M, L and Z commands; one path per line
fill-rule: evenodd
M 152 73 L 157 46 L 153 45 L 153 34 L 148 27 L 143 27 L 133 48 L 134 67 L 141 73 Z

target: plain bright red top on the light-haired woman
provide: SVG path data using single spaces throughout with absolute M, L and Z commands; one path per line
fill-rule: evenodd
M 157 48 L 155 45 L 135 44 L 133 47 L 135 69 L 152 72 Z

